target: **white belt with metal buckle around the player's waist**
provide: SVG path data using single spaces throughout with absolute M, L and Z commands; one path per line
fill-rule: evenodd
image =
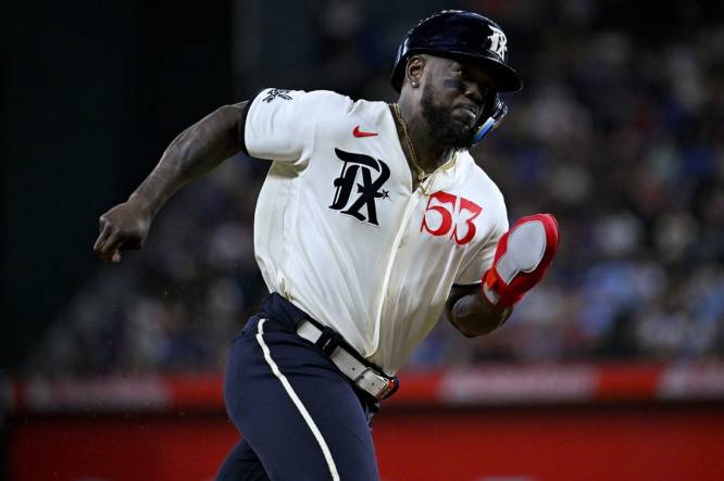
M 310 342 L 316 343 L 322 337 L 322 329 L 303 319 L 297 327 L 297 334 Z M 335 347 L 332 354 L 329 354 L 329 358 L 345 376 L 352 380 L 354 385 L 378 400 L 382 400 L 395 389 L 394 379 L 382 376 L 374 368 L 365 366 L 342 345 Z

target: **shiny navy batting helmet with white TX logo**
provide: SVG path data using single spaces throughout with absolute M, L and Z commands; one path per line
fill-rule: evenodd
M 415 53 L 483 62 L 490 66 L 496 90 L 517 91 L 521 77 L 508 66 L 508 39 L 502 28 L 477 13 L 445 10 L 420 22 L 397 49 L 392 87 L 402 89 L 408 59 Z

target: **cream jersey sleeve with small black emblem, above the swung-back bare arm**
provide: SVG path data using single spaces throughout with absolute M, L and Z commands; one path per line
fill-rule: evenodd
M 239 123 L 242 151 L 252 157 L 295 163 L 314 144 L 320 92 L 264 89 L 247 104 Z

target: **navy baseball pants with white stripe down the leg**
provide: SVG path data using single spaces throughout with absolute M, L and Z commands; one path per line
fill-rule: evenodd
M 370 422 L 377 402 L 296 333 L 307 317 L 278 294 L 230 347 L 224 400 L 244 439 L 217 481 L 374 481 Z

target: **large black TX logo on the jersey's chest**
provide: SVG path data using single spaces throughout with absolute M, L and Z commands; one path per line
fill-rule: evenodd
M 337 188 L 329 208 L 351 215 L 360 221 L 378 226 L 376 199 L 389 194 L 382 187 L 389 178 L 389 167 L 383 161 L 369 155 L 335 149 L 342 162 L 342 169 L 334 181 Z M 373 176 L 376 178 L 373 180 Z M 360 212 L 364 208 L 364 213 Z

